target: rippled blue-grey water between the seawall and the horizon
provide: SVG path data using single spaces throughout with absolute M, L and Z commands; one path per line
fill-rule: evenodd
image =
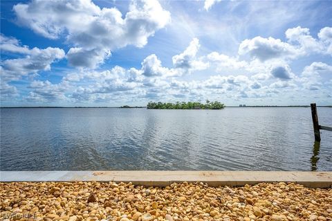
M 332 109 L 318 108 L 332 125 Z M 310 108 L 1 109 L 1 170 L 332 170 Z

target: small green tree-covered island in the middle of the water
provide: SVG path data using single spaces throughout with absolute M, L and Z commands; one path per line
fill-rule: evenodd
M 225 105 L 219 101 L 206 100 L 205 104 L 200 102 L 176 102 L 162 103 L 149 102 L 147 109 L 223 109 Z

